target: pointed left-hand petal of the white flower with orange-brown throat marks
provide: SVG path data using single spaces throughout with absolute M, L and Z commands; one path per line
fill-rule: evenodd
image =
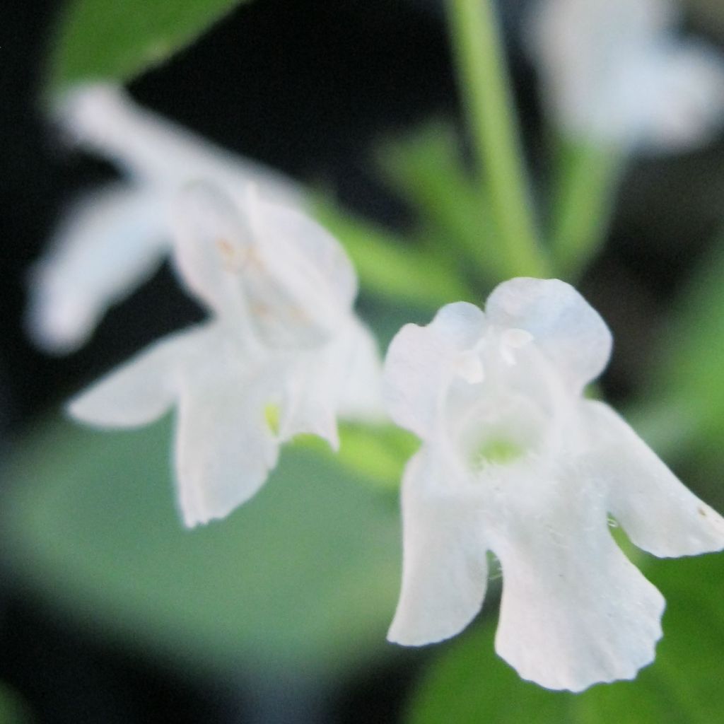
M 193 363 L 206 336 L 201 327 L 165 337 L 70 400 L 68 411 L 77 420 L 98 427 L 153 422 L 174 404 L 180 369 Z

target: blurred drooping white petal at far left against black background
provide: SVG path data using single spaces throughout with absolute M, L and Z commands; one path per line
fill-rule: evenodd
M 39 346 L 76 350 L 151 277 L 170 245 L 161 206 L 151 189 L 113 185 L 71 209 L 30 271 L 27 324 Z

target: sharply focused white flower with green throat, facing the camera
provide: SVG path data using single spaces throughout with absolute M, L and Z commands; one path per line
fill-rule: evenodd
M 385 361 L 392 418 L 423 441 L 403 479 L 403 586 L 389 638 L 455 635 L 479 612 L 486 552 L 502 566 L 498 654 L 580 691 L 654 658 L 664 599 L 610 535 L 657 556 L 724 547 L 724 520 L 584 386 L 611 336 L 573 287 L 512 279 L 485 313 L 443 307 Z

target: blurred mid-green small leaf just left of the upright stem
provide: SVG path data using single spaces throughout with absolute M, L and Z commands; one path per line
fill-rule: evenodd
M 451 123 L 434 122 L 380 146 L 385 178 L 418 214 L 420 236 L 451 269 L 503 274 L 492 220 L 479 185 L 463 164 L 460 139 Z

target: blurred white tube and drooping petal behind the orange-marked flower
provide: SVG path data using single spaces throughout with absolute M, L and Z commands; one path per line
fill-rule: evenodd
M 72 90 L 56 120 L 127 181 L 78 201 L 31 271 L 28 330 L 50 352 L 82 346 L 106 309 L 156 271 L 171 247 L 172 200 L 189 181 L 209 180 L 235 198 L 254 182 L 267 198 L 300 205 L 292 182 L 139 108 L 117 86 Z

